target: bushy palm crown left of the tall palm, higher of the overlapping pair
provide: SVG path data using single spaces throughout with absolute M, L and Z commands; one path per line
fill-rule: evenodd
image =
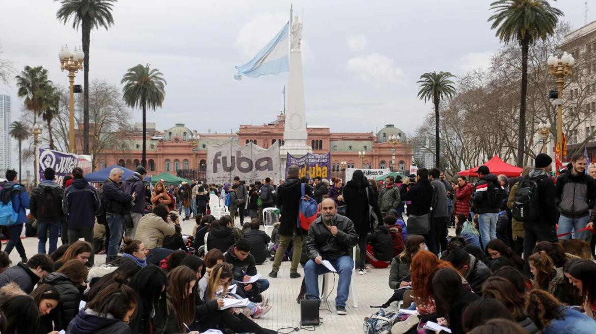
M 25 98 L 25 108 L 33 112 L 33 125 L 37 116 L 46 109 L 46 94 L 52 82 L 48 80 L 48 70 L 44 67 L 25 66 L 17 79 L 18 97 Z

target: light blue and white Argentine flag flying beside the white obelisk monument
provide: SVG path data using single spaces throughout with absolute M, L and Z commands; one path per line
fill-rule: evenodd
M 262 75 L 278 74 L 288 72 L 288 30 L 290 22 L 275 35 L 265 47 L 254 56 L 248 63 L 242 66 L 235 66 L 238 74 L 234 79 L 241 80 L 242 76 L 258 78 Z

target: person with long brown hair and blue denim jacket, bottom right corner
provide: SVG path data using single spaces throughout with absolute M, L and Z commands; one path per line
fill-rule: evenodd
M 596 333 L 596 321 L 564 307 L 550 293 L 533 289 L 526 298 L 526 311 L 542 334 Z

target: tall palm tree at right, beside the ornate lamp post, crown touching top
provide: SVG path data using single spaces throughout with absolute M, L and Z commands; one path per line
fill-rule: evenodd
M 555 0 L 556 1 L 556 0 Z M 519 42 L 522 47 L 522 94 L 520 98 L 519 139 L 517 141 L 517 166 L 524 162 L 526 142 L 527 54 L 537 39 L 552 35 L 563 12 L 551 7 L 547 0 L 498 0 L 491 4 L 495 11 L 489 21 L 496 36 L 505 42 Z

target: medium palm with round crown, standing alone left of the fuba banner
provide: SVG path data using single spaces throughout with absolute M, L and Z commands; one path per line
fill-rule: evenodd
M 146 110 L 147 107 L 155 109 L 161 107 L 164 98 L 166 97 L 166 79 L 163 78 L 163 73 L 157 69 L 151 69 L 150 64 L 142 66 L 138 64 L 122 77 L 120 84 L 124 84 L 122 88 L 122 98 L 125 103 L 131 108 L 141 108 L 143 110 L 143 147 L 141 165 L 145 167 L 146 160 L 146 144 L 145 136 L 147 135 Z

